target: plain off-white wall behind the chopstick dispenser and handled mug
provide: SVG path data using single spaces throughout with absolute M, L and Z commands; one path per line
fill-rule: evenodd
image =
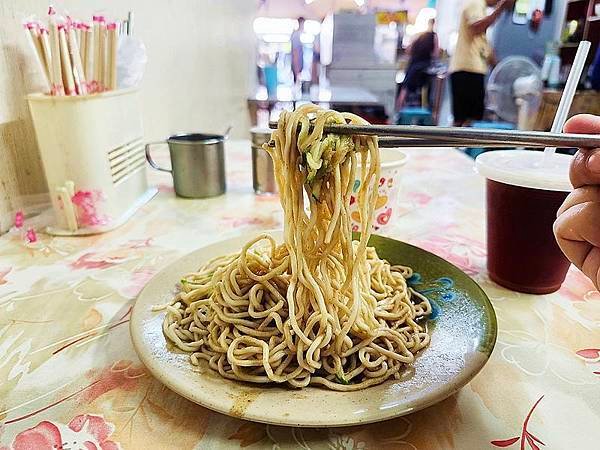
M 0 232 L 12 223 L 23 196 L 47 190 L 29 111 L 28 92 L 40 79 L 21 27 L 24 17 L 45 19 L 48 0 L 0 0 Z M 147 139 L 182 131 L 247 136 L 246 96 L 254 85 L 256 0 L 53 1 L 76 18 L 95 12 L 135 14 L 148 51 L 142 84 Z

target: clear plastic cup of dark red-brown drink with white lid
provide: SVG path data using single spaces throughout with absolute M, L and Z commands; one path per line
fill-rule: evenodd
M 571 191 L 567 155 L 527 150 L 492 151 L 475 160 L 486 181 L 489 277 L 529 294 L 557 291 L 569 269 L 552 226 Z

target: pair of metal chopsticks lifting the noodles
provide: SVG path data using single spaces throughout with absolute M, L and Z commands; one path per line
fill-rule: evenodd
M 277 128 L 276 122 L 269 123 Z M 326 125 L 325 133 L 380 136 L 381 147 L 600 147 L 600 135 L 417 125 Z M 381 138 L 394 136 L 402 139 Z

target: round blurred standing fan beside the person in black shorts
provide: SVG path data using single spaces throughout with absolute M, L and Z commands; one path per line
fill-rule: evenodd
M 541 70 L 531 59 L 509 56 L 492 70 L 488 104 L 498 117 L 530 130 L 542 98 Z

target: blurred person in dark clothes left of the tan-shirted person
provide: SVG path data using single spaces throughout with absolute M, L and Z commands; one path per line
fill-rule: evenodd
M 421 89 L 428 81 L 427 69 L 431 61 L 439 54 L 437 34 L 433 31 L 435 19 L 429 19 L 427 31 L 419 34 L 408 46 L 406 53 L 409 55 L 406 76 L 398 94 L 396 110 L 400 111 L 409 92 Z

